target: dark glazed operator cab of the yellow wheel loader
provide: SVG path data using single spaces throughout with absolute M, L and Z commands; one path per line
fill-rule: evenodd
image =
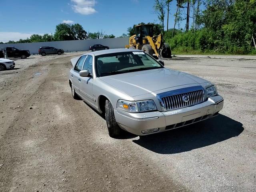
M 135 34 L 136 34 L 136 43 L 144 44 L 143 39 L 146 36 L 153 37 L 153 27 L 152 24 L 142 24 L 135 26 Z

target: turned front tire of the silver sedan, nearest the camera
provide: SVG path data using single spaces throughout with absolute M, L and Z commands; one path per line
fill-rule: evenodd
M 106 100 L 105 102 L 105 112 L 109 136 L 112 138 L 119 138 L 122 130 L 116 122 L 114 109 L 109 100 Z

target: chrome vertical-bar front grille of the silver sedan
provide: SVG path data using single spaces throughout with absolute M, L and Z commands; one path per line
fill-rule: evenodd
M 184 102 L 183 96 L 188 96 L 188 102 Z M 162 102 L 164 103 L 166 110 L 192 106 L 204 102 L 204 91 L 196 90 L 192 92 L 162 97 Z

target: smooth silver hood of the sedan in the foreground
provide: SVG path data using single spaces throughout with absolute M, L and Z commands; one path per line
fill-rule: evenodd
M 104 76 L 100 79 L 130 96 L 148 94 L 175 86 L 208 82 L 197 76 L 167 68 Z

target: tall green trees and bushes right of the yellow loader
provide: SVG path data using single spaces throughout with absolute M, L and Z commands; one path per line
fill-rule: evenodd
M 172 52 L 256 54 L 256 0 L 155 0 L 153 8 Z

